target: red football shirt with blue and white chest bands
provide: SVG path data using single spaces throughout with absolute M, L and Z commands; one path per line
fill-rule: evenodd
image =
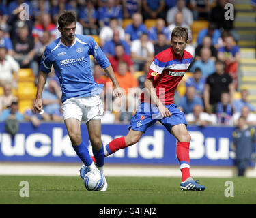
M 177 85 L 192 62 L 192 55 L 184 50 L 182 57 L 175 54 L 173 48 L 167 48 L 158 53 L 150 65 L 147 78 L 153 78 L 156 95 L 162 104 L 173 104 L 173 97 Z M 141 95 L 141 102 L 148 102 L 145 95 Z

